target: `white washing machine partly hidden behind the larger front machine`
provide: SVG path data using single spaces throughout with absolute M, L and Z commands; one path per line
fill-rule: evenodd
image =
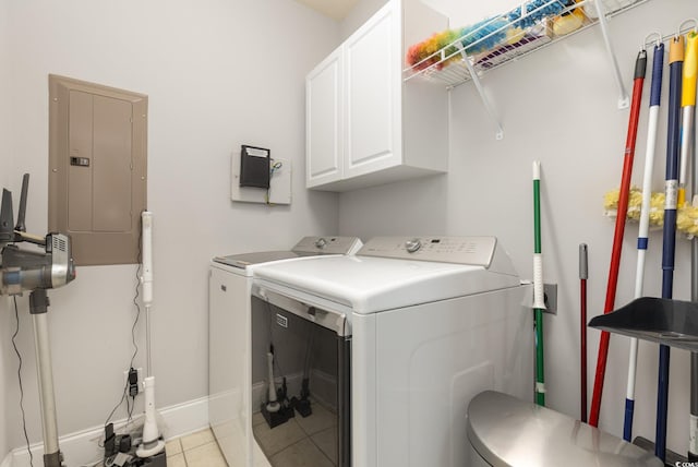
M 252 465 L 250 288 L 255 265 L 326 254 L 353 254 L 356 237 L 305 237 L 290 251 L 217 256 L 208 282 L 209 423 L 230 466 Z

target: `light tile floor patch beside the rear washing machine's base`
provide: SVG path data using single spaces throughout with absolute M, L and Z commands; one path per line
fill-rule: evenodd
M 167 467 L 228 467 L 209 429 L 168 441 L 165 452 Z

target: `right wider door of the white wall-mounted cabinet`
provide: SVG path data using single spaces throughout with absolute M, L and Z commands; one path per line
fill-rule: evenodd
M 345 178 L 401 163 L 400 17 L 389 1 L 344 45 Z

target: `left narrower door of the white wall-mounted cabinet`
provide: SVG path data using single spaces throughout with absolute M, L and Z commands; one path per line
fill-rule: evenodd
M 342 60 L 335 50 L 305 77 L 305 185 L 341 178 Z

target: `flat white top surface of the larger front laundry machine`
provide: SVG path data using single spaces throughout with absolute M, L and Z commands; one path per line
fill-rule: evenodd
M 519 286 L 484 266 L 373 256 L 325 256 L 254 267 L 255 280 L 370 314 Z

